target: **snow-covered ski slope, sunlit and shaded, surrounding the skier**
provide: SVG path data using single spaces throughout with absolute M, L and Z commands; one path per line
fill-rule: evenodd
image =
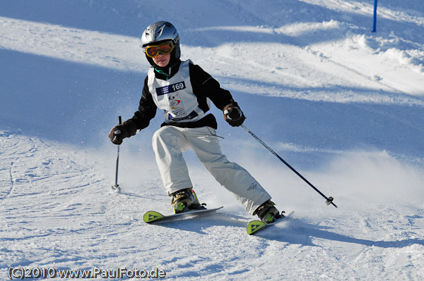
M 0 279 L 8 268 L 165 270 L 169 280 L 423 280 L 422 0 L 1 1 Z M 411 8 L 412 7 L 412 8 Z M 107 134 L 136 110 L 139 37 L 168 20 L 190 58 L 230 89 L 245 125 L 339 208 L 220 113 L 218 135 L 295 216 L 257 237 L 252 219 L 187 152 L 205 218 L 170 211 L 151 126 Z M 100 277 L 99 277 L 100 278 Z

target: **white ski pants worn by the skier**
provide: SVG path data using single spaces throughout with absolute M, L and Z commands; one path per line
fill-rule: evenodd
M 152 142 L 168 195 L 193 187 L 182 156 L 182 152 L 191 148 L 220 185 L 232 192 L 250 214 L 266 200 L 271 199 L 247 170 L 228 161 L 222 154 L 216 132 L 211 127 L 164 126 L 155 132 Z

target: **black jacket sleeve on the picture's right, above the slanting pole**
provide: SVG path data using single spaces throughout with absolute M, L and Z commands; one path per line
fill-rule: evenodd
M 221 88 L 219 82 L 199 65 L 190 64 L 189 71 L 194 94 L 211 99 L 220 110 L 223 110 L 227 104 L 234 102 L 230 92 Z

